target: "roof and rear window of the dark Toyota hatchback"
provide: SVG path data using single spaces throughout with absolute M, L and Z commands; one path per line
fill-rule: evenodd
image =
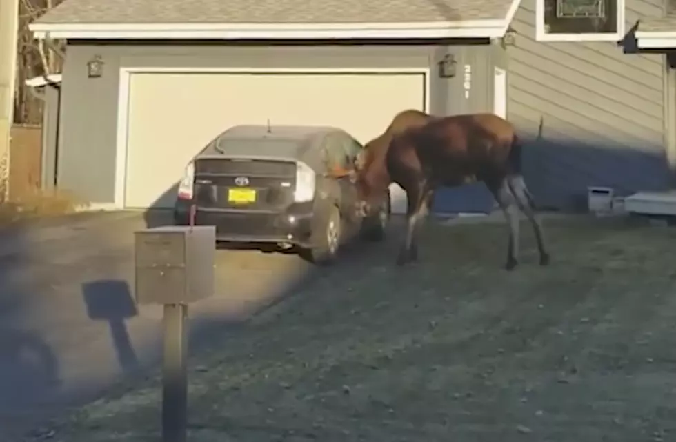
M 236 125 L 223 131 L 197 157 L 227 157 L 304 161 L 321 169 L 320 148 L 339 128 L 319 125 Z

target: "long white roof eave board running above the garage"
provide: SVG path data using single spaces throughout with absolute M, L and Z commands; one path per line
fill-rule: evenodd
M 503 37 L 509 21 L 298 24 L 32 23 L 29 28 L 36 39 L 442 39 Z

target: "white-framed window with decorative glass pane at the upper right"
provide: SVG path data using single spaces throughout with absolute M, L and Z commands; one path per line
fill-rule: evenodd
M 624 0 L 535 0 L 538 41 L 620 41 Z

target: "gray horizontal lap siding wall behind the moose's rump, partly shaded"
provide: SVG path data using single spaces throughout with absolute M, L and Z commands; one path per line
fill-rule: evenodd
M 661 0 L 626 0 L 627 30 L 662 14 Z M 535 0 L 523 0 L 508 54 L 508 116 L 527 143 L 524 174 L 541 206 L 579 208 L 588 185 L 622 194 L 670 185 L 664 57 L 609 42 L 535 41 Z M 541 135 L 540 139 L 537 139 Z

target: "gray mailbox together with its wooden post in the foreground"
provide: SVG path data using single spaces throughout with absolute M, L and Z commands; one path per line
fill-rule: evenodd
M 214 292 L 215 243 L 212 225 L 171 225 L 135 232 L 136 302 L 164 306 L 164 442 L 186 441 L 188 303 Z

